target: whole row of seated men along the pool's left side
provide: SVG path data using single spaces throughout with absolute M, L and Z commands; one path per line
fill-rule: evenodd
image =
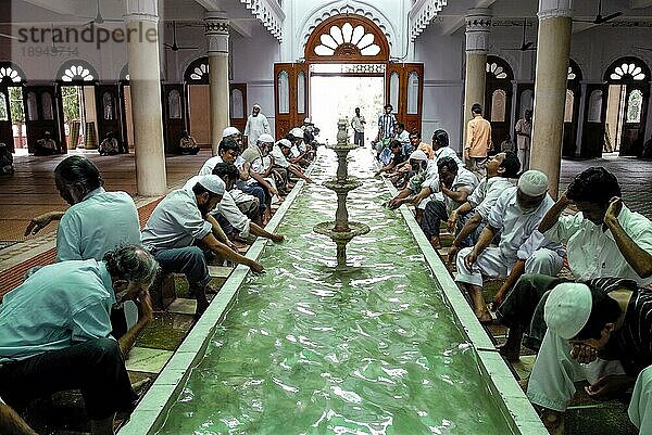
M 291 177 L 310 181 L 302 165 L 314 150 L 300 143 L 299 131 L 278 142 L 263 135 L 242 153 L 240 132 L 225 129 L 218 155 L 170 192 L 142 230 L 131 196 L 105 191 L 91 161 L 75 155 L 57 166 L 55 187 L 70 208 L 35 217 L 25 231 L 59 221 L 57 263 L 30 270 L 0 304 L 0 433 L 34 434 L 14 409 L 78 388 L 91 433 L 113 434 L 116 412 L 136 404 L 125 357 L 153 318 L 150 286 L 160 272 L 184 273 L 201 316 L 206 292 L 214 292 L 211 261 L 264 272 L 229 236 L 284 240 L 255 219 L 268 216 L 272 197 L 284 193 L 277 185 L 291 187 Z M 130 322 L 128 300 L 138 310 Z

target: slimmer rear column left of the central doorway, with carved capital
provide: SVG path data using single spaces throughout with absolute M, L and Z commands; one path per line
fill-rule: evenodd
M 209 87 L 211 95 L 211 145 L 213 155 L 222 140 L 222 131 L 229 126 L 228 90 L 228 20 L 223 12 L 204 14 L 209 46 Z

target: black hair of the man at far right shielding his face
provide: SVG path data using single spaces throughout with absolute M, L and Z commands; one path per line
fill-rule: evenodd
M 620 196 L 616 177 L 601 166 L 585 169 L 570 182 L 566 196 L 570 201 L 598 204 L 606 208 L 614 196 Z

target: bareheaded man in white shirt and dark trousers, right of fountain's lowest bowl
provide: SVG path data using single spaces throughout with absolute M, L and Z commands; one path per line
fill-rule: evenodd
M 421 228 L 434 248 L 439 250 L 439 229 L 441 221 L 449 219 L 450 213 L 466 202 L 478 183 L 477 177 L 469 170 L 459 167 L 453 157 L 437 161 L 439 185 L 430 184 L 434 199 L 424 210 Z

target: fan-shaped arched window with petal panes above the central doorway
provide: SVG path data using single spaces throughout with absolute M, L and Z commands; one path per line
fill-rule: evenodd
M 389 44 L 380 28 L 364 16 L 351 14 L 326 20 L 305 43 L 305 60 L 311 62 L 386 62 Z

